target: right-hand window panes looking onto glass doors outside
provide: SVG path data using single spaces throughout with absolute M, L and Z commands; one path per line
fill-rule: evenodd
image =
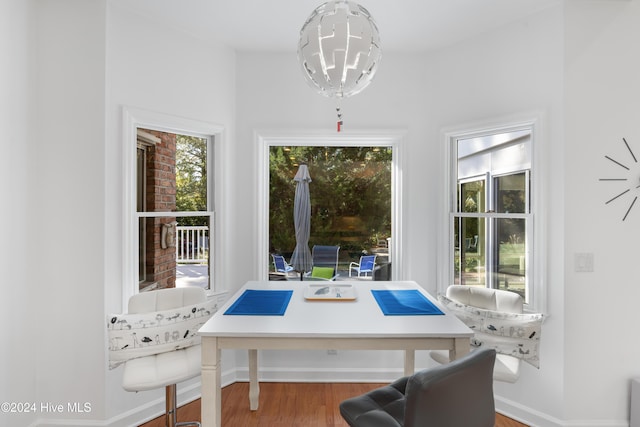
M 452 135 L 448 141 L 447 283 L 509 290 L 532 306 L 539 288 L 534 279 L 542 276 L 534 256 L 533 126 Z

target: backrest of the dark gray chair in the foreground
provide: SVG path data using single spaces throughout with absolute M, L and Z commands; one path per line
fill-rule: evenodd
M 493 427 L 493 349 L 420 371 L 407 382 L 405 427 Z

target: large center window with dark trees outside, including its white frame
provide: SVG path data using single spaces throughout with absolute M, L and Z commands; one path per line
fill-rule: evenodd
M 381 254 L 379 266 L 384 264 L 378 274 L 391 280 L 402 280 L 401 141 L 401 135 L 386 133 L 257 134 L 260 165 L 257 196 L 262 215 L 256 224 L 259 231 L 256 276 L 266 279 L 273 271 L 271 254 L 274 252 L 282 253 L 289 261 L 288 256 L 295 247 L 293 211 L 287 214 L 286 211 L 292 208 L 285 205 L 290 203 L 280 203 L 280 200 L 289 197 L 293 200 L 295 165 L 306 161 L 312 174 L 310 249 L 314 244 L 340 245 L 339 274 L 347 277 L 350 261 L 358 261 L 363 251 L 378 251 Z M 273 167 L 278 173 L 273 173 Z M 364 199 L 370 198 L 371 191 L 376 191 L 372 182 L 365 179 L 367 174 L 368 178 L 373 175 L 382 178 L 375 186 L 386 194 L 387 200 L 363 209 L 363 203 L 367 204 Z M 276 181 L 280 181 L 277 187 L 284 193 L 274 193 Z M 358 190 L 358 183 L 367 184 L 369 188 L 365 185 Z M 315 196 L 321 197 L 314 199 L 314 191 Z M 376 213 L 369 214 L 367 210 Z

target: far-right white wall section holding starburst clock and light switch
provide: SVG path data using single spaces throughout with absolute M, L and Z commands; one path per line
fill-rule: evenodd
M 630 198 L 605 206 L 618 187 L 598 181 L 616 175 L 605 155 L 629 158 L 621 138 L 640 160 L 639 22 L 638 1 L 567 2 L 565 419 L 584 425 L 626 425 L 629 379 L 640 376 L 640 206 L 622 222 Z M 573 271 L 576 253 L 594 255 L 593 273 Z

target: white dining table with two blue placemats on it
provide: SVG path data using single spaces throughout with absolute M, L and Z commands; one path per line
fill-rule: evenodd
M 311 281 L 250 281 L 202 328 L 202 425 L 221 427 L 222 349 L 249 352 L 249 408 L 258 409 L 258 350 L 404 350 L 404 373 L 414 371 L 415 350 L 449 350 L 451 360 L 467 354 L 473 335 L 464 323 L 412 281 L 340 281 L 355 299 L 308 299 Z M 245 290 L 291 290 L 283 315 L 227 315 Z M 443 314 L 385 315 L 372 290 L 418 290 Z M 311 294 L 313 295 L 313 294 Z M 345 293 L 343 292 L 343 295 Z

